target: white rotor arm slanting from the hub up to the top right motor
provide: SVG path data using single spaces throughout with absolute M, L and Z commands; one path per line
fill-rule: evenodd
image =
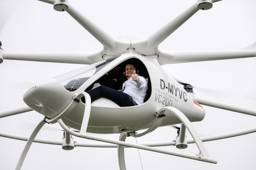
M 220 0 L 213 0 L 212 3 Z M 177 28 L 184 24 L 190 17 L 192 17 L 197 11 L 197 2 L 190 6 L 187 10 L 180 15 L 172 19 L 169 23 L 150 35 L 147 39 L 132 42 L 132 48 L 143 55 L 158 54 L 157 46 L 164 41 L 169 35 L 171 35 Z M 153 51 L 152 51 L 153 50 Z

